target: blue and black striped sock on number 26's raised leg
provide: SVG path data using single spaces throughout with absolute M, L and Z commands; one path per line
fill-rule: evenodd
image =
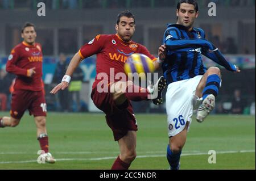
M 216 98 L 218 95 L 218 90 L 220 89 L 221 79 L 217 74 L 209 75 L 207 78 L 207 83 L 203 90 L 203 100 L 209 95 L 213 94 Z

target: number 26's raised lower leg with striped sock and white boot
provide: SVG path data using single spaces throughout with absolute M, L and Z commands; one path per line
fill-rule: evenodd
M 197 110 L 196 120 L 201 123 L 209 115 L 210 111 L 213 110 L 215 106 L 215 99 L 218 95 L 218 90 L 221 86 L 220 69 L 209 68 L 207 73 L 206 83 L 203 89 L 203 102 Z M 204 75 L 204 76 L 205 76 Z M 203 79 L 205 79 L 203 77 Z

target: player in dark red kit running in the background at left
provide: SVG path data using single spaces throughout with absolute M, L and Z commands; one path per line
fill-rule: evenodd
M 46 131 L 46 100 L 42 81 L 42 47 L 36 43 L 34 24 L 24 24 L 21 36 L 22 43 L 16 45 L 8 58 L 6 71 L 16 75 L 14 92 L 11 98 L 11 117 L 1 117 L 0 127 L 16 127 L 24 112 L 28 110 L 34 115 L 37 137 L 42 157 L 46 162 L 55 163 L 49 153 L 48 136 Z

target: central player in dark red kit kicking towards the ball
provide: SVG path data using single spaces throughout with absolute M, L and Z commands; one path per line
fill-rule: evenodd
M 131 100 L 148 100 L 148 95 L 157 92 L 158 96 L 153 99 L 153 103 L 159 104 L 158 100 L 162 99 L 165 82 L 164 78 L 160 77 L 155 86 L 148 86 L 146 91 L 142 91 L 143 88 L 139 87 L 139 92 L 126 92 L 129 87 L 134 90 L 137 87 L 132 81 L 127 81 L 123 70 L 127 57 L 133 53 L 142 53 L 155 62 L 158 58 L 152 56 L 146 47 L 131 40 L 135 31 L 135 18 L 131 12 L 123 11 L 118 15 L 115 30 L 117 33 L 114 35 L 98 35 L 88 44 L 82 46 L 72 58 L 62 82 L 51 93 L 55 94 L 59 90 L 66 89 L 71 81 L 71 75 L 79 63 L 84 58 L 97 54 L 97 75 L 93 83 L 91 98 L 94 104 L 106 114 L 106 121 L 113 131 L 114 140 L 119 144 L 120 154 L 115 159 L 112 169 L 126 170 L 129 169 L 131 162 L 136 157 L 136 131 L 138 130 Z M 120 81 L 120 78 L 115 79 L 115 76 L 111 77 L 111 68 L 114 68 L 114 75 L 124 74 L 127 82 Z M 106 77 L 98 76 L 100 73 L 105 73 Z M 112 78 L 113 82 L 110 81 Z M 108 85 L 107 92 L 98 90 L 102 82 L 106 82 Z

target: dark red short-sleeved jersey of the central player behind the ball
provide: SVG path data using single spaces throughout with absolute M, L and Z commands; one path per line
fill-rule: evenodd
M 133 53 L 142 53 L 150 57 L 152 61 L 157 58 L 150 54 L 146 47 L 141 44 L 130 41 L 126 43 L 117 35 L 97 35 L 92 41 L 83 45 L 79 50 L 80 57 L 82 59 L 97 54 L 96 60 L 96 78 L 93 83 L 93 88 L 97 86 L 103 77 L 97 79 L 97 75 L 100 73 L 108 74 L 108 82 L 119 81 L 115 79 L 115 75 L 119 72 L 125 73 L 123 65 L 125 64 L 127 57 Z M 110 69 L 114 68 L 114 73 L 111 73 Z

